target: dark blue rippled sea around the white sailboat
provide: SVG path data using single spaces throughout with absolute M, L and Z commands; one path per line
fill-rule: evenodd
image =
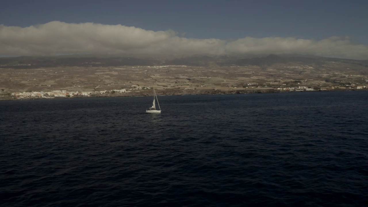
M 368 92 L 0 102 L 1 206 L 368 205 Z

